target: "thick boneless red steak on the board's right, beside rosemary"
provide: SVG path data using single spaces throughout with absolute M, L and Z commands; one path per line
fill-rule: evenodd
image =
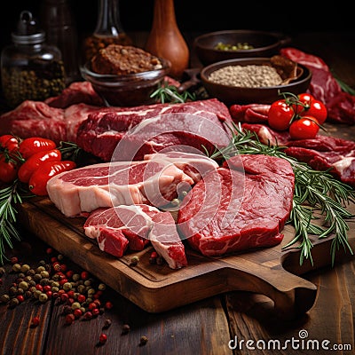
M 235 156 L 193 186 L 178 211 L 178 230 L 205 256 L 279 244 L 294 184 L 284 159 Z

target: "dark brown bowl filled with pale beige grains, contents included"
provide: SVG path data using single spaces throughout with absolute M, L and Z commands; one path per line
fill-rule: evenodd
M 280 56 L 223 60 L 203 67 L 200 75 L 209 97 L 227 106 L 272 104 L 282 92 L 307 91 L 312 79 L 307 67 Z

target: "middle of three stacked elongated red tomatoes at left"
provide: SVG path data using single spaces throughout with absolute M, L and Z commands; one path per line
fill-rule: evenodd
M 60 162 L 60 160 L 61 153 L 58 149 L 35 153 L 20 166 L 18 173 L 19 180 L 22 183 L 28 183 L 31 175 L 42 165 L 43 162 Z

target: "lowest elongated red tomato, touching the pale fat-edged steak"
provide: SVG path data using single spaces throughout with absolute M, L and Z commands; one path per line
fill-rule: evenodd
M 29 190 L 38 196 L 46 196 L 47 182 L 51 177 L 55 177 L 63 171 L 76 168 L 75 162 L 43 162 L 41 166 L 33 172 L 28 181 Z

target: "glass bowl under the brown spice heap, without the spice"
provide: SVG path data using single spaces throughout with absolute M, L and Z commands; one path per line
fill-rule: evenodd
M 104 100 L 106 106 L 140 106 L 155 102 L 151 94 L 170 73 L 170 61 L 160 58 L 162 68 L 130 75 L 102 75 L 91 71 L 90 62 L 80 68 L 84 80 Z

